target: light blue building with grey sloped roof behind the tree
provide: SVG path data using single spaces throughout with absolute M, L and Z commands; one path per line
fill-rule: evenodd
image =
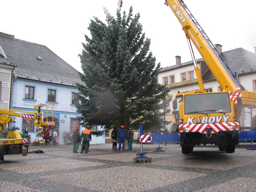
M 54 104 L 53 128 L 58 132 L 60 144 L 64 143 L 64 132 L 72 134 L 79 128 L 81 133 L 84 128 L 79 125 L 77 116 L 80 114 L 75 107 L 79 102 L 76 83 L 82 84 L 79 72 L 45 45 L 15 39 L 1 32 L 0 45 L 7 60 L 17 65 L 13 72 L 11 108 L 34 111 L 34 105 Z M 13 118 L 16 121 L 13 125 L 20 130 L 28 129 L 31 141 L 41 139 L 31 119 Z M 105 143 L 105 137 L 92 137 L 91 143 Z

